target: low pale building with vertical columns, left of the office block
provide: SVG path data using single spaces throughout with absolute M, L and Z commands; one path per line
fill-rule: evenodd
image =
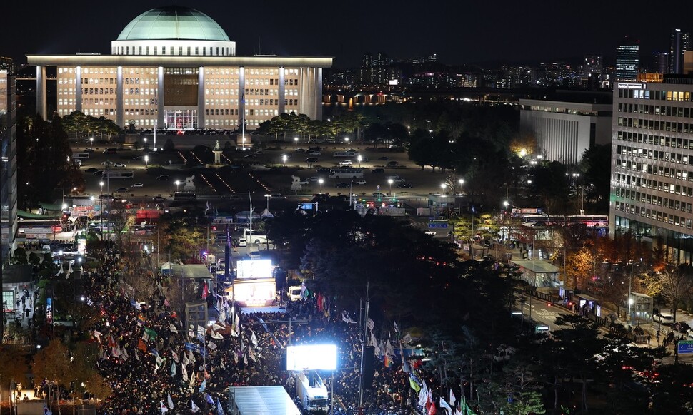
M 547 160 L 577 164 L 584 150 L 611 139 L 612 103 L 608 93 L 557 93 L 520 99 L 520 129 L 537 142 L 535 153 Z

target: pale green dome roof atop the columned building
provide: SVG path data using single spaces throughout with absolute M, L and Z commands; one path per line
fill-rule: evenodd
M 229 41 L 229 36 L 201 11 L 176 5 L 145 11 L 118 36 L 119 41 L 163 39 Z

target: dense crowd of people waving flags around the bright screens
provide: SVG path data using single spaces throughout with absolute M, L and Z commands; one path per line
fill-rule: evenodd
M 294 379 L 283 363 L 289 342 L 338 345 L 334 385 L 331 374 L 324 380 L 328 390 L 334 386 L 335 413 L 357 414 L 359 324 L 328 317 L 313 298 L 289 304 L 281 312 L 249 308 L 239 313 L 217 296 L 215 324 L 184 327 L 181 310 L 172 309 L 166 298 L 164 277 L 151 275 L 157 287 L 153 296 L 137 298 L 120 280 L 118 258 L 104 251 L 99 260 L 98 270 L 84 274 L 89 303 L 102 316 L 89 334 L 99 347 L 99 370 L 113 390 L 99 414 L 159 414 L 171 409 L 223 414 L 229 386 L 261 385 L 284 386 L 300 408 Z M 209 295 L 215 295 L 214 290 Z M 435 381 L 426 380 L 429 385 Z M 364 413 L 416 413 L 418 394 L 410 385 L 401 362 L 388 367 L 377 363 L 373 387 L 364 391 Z

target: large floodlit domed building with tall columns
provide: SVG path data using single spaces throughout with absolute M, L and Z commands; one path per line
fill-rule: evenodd
M 111 55 L 27 55 L 36 111 L 46 119 L 46 68 L 57 73 L 57 115 L 106 117 L 121 127 L 256 128 L 281 113 L 322 117 L 331 57 L 236 56 L 236 42 L 200 11 L 174 5 L 133 19 Z

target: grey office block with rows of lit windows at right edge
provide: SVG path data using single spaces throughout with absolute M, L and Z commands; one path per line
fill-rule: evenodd
M 693 78 L 614 88 L 609 230 L 632 232 L 674 263 L 693 252 Z

